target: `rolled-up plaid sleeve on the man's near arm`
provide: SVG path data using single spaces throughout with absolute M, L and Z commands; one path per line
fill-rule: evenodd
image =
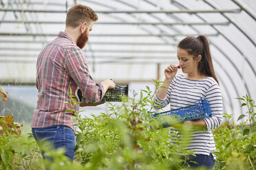
M 83 93 L 86 103 L 96 103 L 103 99 L 103 86 L 92 79 L 83 51 L 78 48 L 67 51 L 64 66 L 67 74 L 72 77 Z

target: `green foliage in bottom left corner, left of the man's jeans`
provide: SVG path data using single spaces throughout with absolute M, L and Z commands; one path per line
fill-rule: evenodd
M 0 169 L 41 169 L 43 162 L 34 138 L 28 134 L 0 136 Z

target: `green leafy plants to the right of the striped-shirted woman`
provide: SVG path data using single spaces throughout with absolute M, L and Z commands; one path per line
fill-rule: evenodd
M 248 98 L 248 95 L 242 99 L 242 104 L 247 106 L 248 120 L 237 124 L 231 122 L 232 114 L 224 113 L 226 122 L 214 130 L 214 138 L 217 147 L 217 160 L 215 169 L 255 169 L 256 167 L 256 128 L 254 101 Z M 237 121 L 246 117 L 242 114 Z M 231 123 L 230 123 L 231 122 Z

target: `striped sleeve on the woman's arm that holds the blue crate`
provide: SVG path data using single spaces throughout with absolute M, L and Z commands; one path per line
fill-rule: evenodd
M 222 92 L 220 86 L 213 84 L 206 92 L 206 99 L 209 101 L 211 108 L 211 117 L 203 120 L 208 130 L 214 130 L 222 123 Z

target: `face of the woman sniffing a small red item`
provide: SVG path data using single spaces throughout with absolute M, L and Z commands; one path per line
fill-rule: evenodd
M 183 73 L 194 73 L 198 71 L 198 60 L 195 60 L 186 49 L 178 48 L 177 57 Z

